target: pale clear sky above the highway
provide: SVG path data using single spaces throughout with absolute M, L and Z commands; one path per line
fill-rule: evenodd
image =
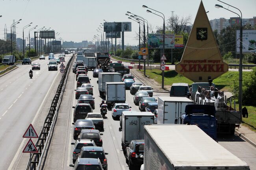
M 243 18 L 256 16 L 256 0 L 223 1 L 239 8 Z M 209 11 L 209 20 L 236 16 L 225 9 L 215 8 L 215 4 L 228 7 L 217 0 L 203 0 L 203 3 L 206 11 Z M 174 14 L 179 16 L 191 15 L 193 24 L 199 4 L 200 0 L 1 0 L 0 38 L 4 38 L 4 24 L 9 33 L 13 19 L 22 18 L 20 24 L 17 24 L 17 37 L 22 37 L 22 27 L 33 22 L 32 25 L 38 25 L 39 28 L 52 27 L 66 41 L 91 41 L 93 35 L 98 33 L 97 27 L 105 19 L 109 22 L 132 22 L 132 32 L 125 32 L 124 40 L 126 45 L 133 45 L 138 44 L 135 32 L 138 32 L 139 27 L 127 18 L 126 11 L 143 16 L 156 29 L 156 26 L 162 25 L 162 19 L 147 13 L 147 9 L 142 5 L 161 11 L 165 18 L 171 16 L 171 11 L 175 11 Z M 232 7 L 229 9 L 233 10 Z M 25 37 L 28 37 L 28 28 L 25 29 Z

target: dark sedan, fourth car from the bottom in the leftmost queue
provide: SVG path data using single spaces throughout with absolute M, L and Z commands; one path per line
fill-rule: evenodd
M 93 139 L 96 146 L 102 146 L 103 141 L 101 135 L 103 135 L 103 133 L 100 133 L 99 130 L 83 129 L 78 136 L 78 139 Z

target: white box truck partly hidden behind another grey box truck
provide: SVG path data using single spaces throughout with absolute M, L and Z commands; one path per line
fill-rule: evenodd
M 98 89 L 100 96 L 105 96 L 106 82 L 121 82 L 121 79 L 121 73 L 98 73 Z

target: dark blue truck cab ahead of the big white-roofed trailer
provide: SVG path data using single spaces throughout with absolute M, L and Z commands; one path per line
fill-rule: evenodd
M 207 135 L 216 141 L 217 119 L 215 118 L 215 107 L 211 105 L 191 104 L 185 108 L 182 114 L 182 124 L 197 125 Z

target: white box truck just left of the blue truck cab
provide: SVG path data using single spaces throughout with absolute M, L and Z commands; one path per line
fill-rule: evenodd
M 158 124 L 181 124 L 181 115 L 193 101 L 187 97 L 158 97 Z

